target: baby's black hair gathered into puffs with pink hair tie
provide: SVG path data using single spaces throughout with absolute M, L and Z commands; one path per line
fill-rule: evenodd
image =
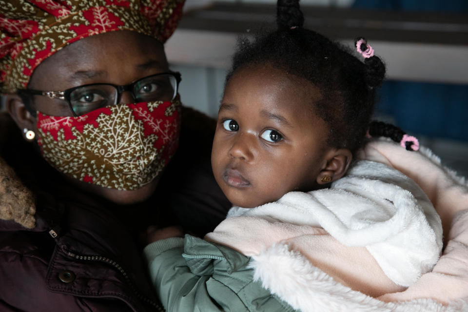
M 278 0 L 277 30 L 261 32 L 253 41 L 240 38 L 226 83 L 240 68 L 269 64 L 317 86 L 322 98 L 311 103 L 329 125 L 329 145 L 354 153 L 364 141 L 385 77 L 385 65 L 366 39 L 355 40 L 364 61 L 347 47 L 308 29 L 298 0 Z M 401 139 L 400 139 L 401 140 Z

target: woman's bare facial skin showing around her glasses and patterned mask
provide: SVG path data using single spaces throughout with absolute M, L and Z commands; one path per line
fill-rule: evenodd
M 131 31 L 115 31 L 78 40 L 43 61 L 34 71 L 28 88 L 63 91 L 90 83 L 126 85 L 139 78 L 167 72 L 163 45 L 156 39 Z M 124 92 L 120 104 L 134 103 Z M 33 109 L 46 115 L 73 116 L 66 102 L 34 96 Z M 34 117 L 32 124 L 37 122 Z M 37 133 L 37 129 L 33 129 Z M 134 191 L 123 191 L 71 179 L 78 187 L 120 204 L 148 198 L 156 188 L 157 178 Z

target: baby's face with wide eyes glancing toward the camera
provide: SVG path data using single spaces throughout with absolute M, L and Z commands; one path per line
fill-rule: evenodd
M 312 112 L 309 81 L 271 66 L 238 69 L 219 108 L 212 151 L 216 182 L 235 206 L 253 208 L 317 187 L 328 126 Z

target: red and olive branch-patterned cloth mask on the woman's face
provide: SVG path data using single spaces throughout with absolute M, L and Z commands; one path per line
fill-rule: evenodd
M 38 144 L 44 159 L 66 176 L 137 190 L 176 152 L 179 123 L 178 99 L 106 106 L 78 117 L 38 112 Z

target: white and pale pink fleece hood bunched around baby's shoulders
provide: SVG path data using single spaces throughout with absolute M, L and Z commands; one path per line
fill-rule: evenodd
M 408 152 L 391 142 L 375 141 L 367 145 L 361 157 L 386 163 L 418 182 L 436 209 L 451 212 L 442 214 L 442 221 L 445 223 L 448 222 L 447 219 L 451 221 L 457 211 L 468 208 L 468 201 L 465 201 L 468 192 L 464 180 L 454 177 L 441 167 L 440 161 L 428 152 Z M 356 168 L 358 167 L 354 169 Z M 246 215 L 243 209 L 235 208 L 231 217 L 223 221 L 214 233 L 208 234 L 207 239 L 252 255 L 256 278 L 262 281 L 264 287 L 301 311 L 464 311 L 467 308 L 464 298 L 468 297 L 468 216 L 462 215 L 456 219 L 448 237 L 448 246 L 433 272 L 424 274 L 414 285 L 403 291 L 405 288 L 396 284 L 413 283 L 420 273 L 426 272 L 435 262 L 431 256 L 421 261 L 425 253 L 418 246 L 422 243 L 427 244 L 431 250 L 439 250 L 440 224 L 438 225 L 437 216 L 427 205 L 427 197 L 420 190 L 412 189 L 410 193 L 413 198 L 402 192 L 408 186 L 413 188 L 411 180 L 403 179 L 408 184 L 401 185 L 401 176 L 398 174 L 391 174 L 388 177 L 390 180 L 382 180 L 382 176 L 375 174 L 378 172 L 380 175 L 381 171 L 375 171 L 372 165 L 366 168 L 371 170 L 358 175 L 351 170 L 350 176 L 370 180 L 378 178 L 384 184 L 377 181 L 373 185 L 364 186 L 362 181 L 351 178 L 340 180 L 338 185 L 335 183 L 335 189 L 348 189 L 346 192 L 349 194 L 346 195 L 351 196 L 348 206 L 354 207 L 355 203 L 360 202 L 360 196 L 369 195 L 369 187 L 374 191 L 379 188 L 384 190 L 385 183 L 394 184 L 394 178 L 399 180 L 397 184 L 400 183 L 400 189 L 387 193 L 384 198 L 379 197 L 378 192 L 371 192 L 375 196 L 370 196 L 370 202 L 348 213 L 337 212 L 334 208 L 322 209 L 323 206 L 330 207 L 330 204 L 339 207 L 338 210 L 344 209 L 327 201 L 333 197 L 327 194 L 330 190 L 319 191 L 319 194 L 313 196 L 309 193 L 309 197 L 301 194 L 300 196 L 306 198 L 299 198 L 300 202 L 315 202 L 315 206 L 319 207 L 318 213 L 309 213 L 306 216 L 305 207 L 299 205 L 299 211 L 291 210 L 291 200 L 297 201 L 298 194 L 289 194 L 277 203 L 283 205 L 283 208 L 287 206 L 288 214 L 278 215 L 273 212 L 273 208 L 272 211 L 268 211 L 270 208 L 262 208 L 265 211 L 259 211 L 259 215 L 263 215 L 259 218 L 254 212 L 258 208 L 249 210 L 253 215 Z M 446 192 L 450 196 L 445 196 Z M 413 203 L 409 205 L 411 213 L 400 209 L 409 203 Z M 456 208 L 452 206 L 454 203 L 458 203 Z M 379 212 L 373 213 L 369 205 L 379 206 Z M 296 205 L 292 206 L 297 209 Z M 412 221 L 405 222 L 407 217 Z M 425 221 L 421 221 L 421 217 Z M 259 219 L 262 220 L 256 222 Z M 227 224 L 226 221 L 235 223 L 238 227 L 235 233 L 231 232 L 234 223 Z M 270 235 L 272 228 L 269 227 L 278 230 L 275 226 L 278 221 L 290 226 Z M 337 240 L 316 227 L 317 225 L 321 225 Z M 223 228 L 224 226 L 227 227 Z M 379 226 L 384 230 L 378 231 Z M 414 237 L 427 238 L 429 235 L 430 238 L 422 239 L 421 242 L 419 239 L 403 240 L 403 233 L 414 231 L 424 231 L 423 235 Z M 242 237 L 233 244 L 233 236 L 238 237 L 238 234 Z M 398 238 L 392 240 L 394 237 Z M 382 242 L 383 245 L 380 245 Z M 415 249 L 410 250 L 410 246 Z M 403 254 L 403 251 L 409 253 Z M 344 263 L 347 265 L 342 270 L 340 266 Z M 379 272 L 376 268 L 382 270 Z M 404 274 L 398 273 L 399 270 Z

